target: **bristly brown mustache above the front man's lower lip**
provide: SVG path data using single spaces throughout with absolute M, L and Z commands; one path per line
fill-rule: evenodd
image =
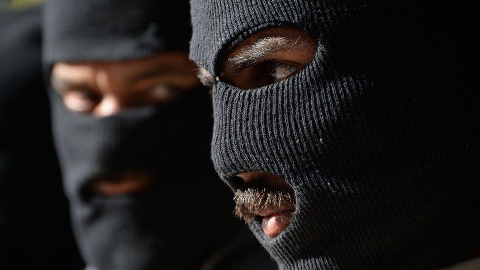
M 295 194 L 288 184 L 278 184 L 265 176 L 255 176 L 240 185 L 234 195 L 234 215 L 246 223 L 263 212 L 295 208 Z

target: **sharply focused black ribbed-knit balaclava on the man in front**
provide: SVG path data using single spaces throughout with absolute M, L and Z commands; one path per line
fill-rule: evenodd
M 266 171 L 296 195 L 280 269 L 433 269 L 480 248 L 478 1 L 192 0 L 190 57 L 213 78 L 270 26 L 309 33 L 298 74 L 213 86 L 220 177 Z

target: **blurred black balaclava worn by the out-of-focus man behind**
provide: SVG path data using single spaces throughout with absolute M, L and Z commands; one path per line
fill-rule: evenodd
M 50 0 L 44 61 L 116 61 L 186 50 L 186 1 Z M 49 74 L 48 74 L 49 75 Z M 195 269 L 236 224 L 210 160 L 211 100 L 193 90 L 108 117 L 68 111 L 50 90 L 54 138 L 74 232 L 98 270 Z M 99 174 L 149 173 L 156 184 L 123 196 L 89 189 Z

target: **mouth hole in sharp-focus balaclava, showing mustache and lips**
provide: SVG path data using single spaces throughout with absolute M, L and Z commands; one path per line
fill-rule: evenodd
M 282 177 L 260 171 L 243 172 L 228 182 L 235 190 L 237 218 L 261 225 L 270 237 L 278 236 L 289 226 L 295 211 L 295 193 Z

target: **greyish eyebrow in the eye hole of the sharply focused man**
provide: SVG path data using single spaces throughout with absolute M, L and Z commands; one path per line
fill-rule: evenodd
M 265 57 L 280 51 L 288 52 L 298 44 L 298 38 L 286 36 L 264 37 L 242 49 L 232 58 L 225 61 L 225 70 L 238 72 L 251 66 Z M 302 44 L 302 43 L 300 43 Z

